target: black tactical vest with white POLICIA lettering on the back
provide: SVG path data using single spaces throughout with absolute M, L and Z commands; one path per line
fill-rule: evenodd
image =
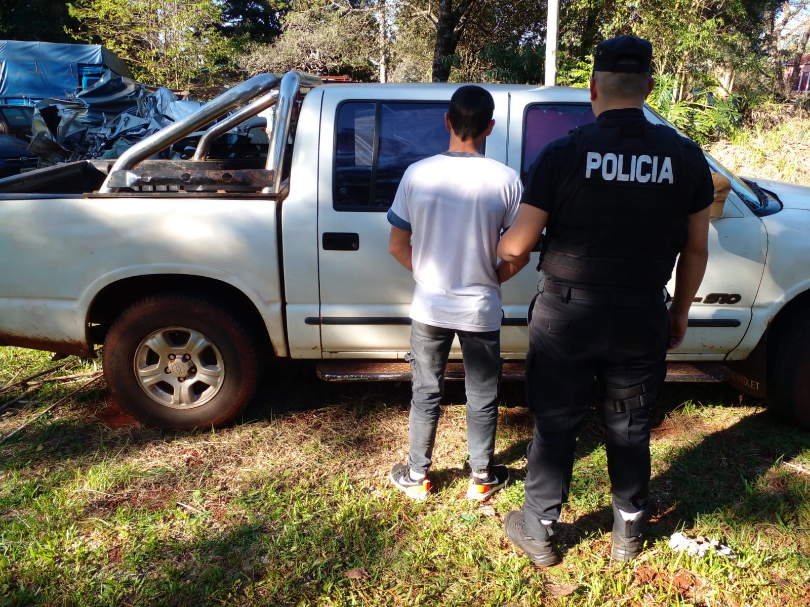
M 585 125 L 556 191 L 539 267 L 566 281 L 663 287 L 686 243 L 693 188 L 684 140 L 640 119 Z

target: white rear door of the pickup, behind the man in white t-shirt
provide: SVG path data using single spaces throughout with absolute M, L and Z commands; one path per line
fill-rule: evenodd
M 321 316 L 310 320 L 321 325 L 325 357 L 401 359 L 410 350 L 414 282 L 388 253 L 386 212 L 407 166 L 447 150 L 444 115 L 455 88 L 420 87 L 419 100 L 347 100 L 339 88 L 325 88 L 318 188 Z M 353 92 L 373 96 L 381 90 L 398 93 L 379 87 Z M 496 126 L 485 153 L 504 162 L 508 97 L 505 91 L 493 91 L 493 97 Z

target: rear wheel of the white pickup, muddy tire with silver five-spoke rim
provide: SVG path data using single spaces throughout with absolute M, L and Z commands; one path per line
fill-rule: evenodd
M 227 308 L 191 295 L 156 295 L 110 327 L 104 376 L 122 408 L 147 426 L 220 427 L 254 397 L 258 356 Z

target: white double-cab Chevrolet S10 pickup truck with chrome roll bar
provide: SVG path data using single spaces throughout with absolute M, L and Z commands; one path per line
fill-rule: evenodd
M 388 254 L 386 210 L 405 168 L 446 149 L 457 86 L 263 74 L 114 164 L 0 180 L 0 345 L 92 356 L 104 344 L 118 401 L 171 428 L 232 420 L 268 355 L 320 359 L 325 380 L 409 379 L 413 282 Z M 484 86 L 496 104 L 485 154 L 523 175 L 546 142 L 594 120 L 584 89 Z M 261 153 L 209 157 L 268 108 Z M 223 115 L 178 158 L 178 142 Z M 709 162 L 731 193 L 667 377 L 730 381 L 810 426 L 810 189 Z M 504 286 L 505 379 L 522 377 L 535 263 Z

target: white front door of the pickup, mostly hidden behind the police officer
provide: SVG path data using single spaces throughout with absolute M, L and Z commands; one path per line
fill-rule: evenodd
M 512 121 L 507 164 L 520 171 L 524 178 L 546 143 L 595 120 L 590 103 L 538 103 L 537 100 L 536 93 L 523 92 L 514 93 L 510 100 Z M 518 119 L 520 116 L 522 120 Z M 652 112 L 648 113 L 648 119 L 661 122 Z M 712 163 L 714 161 L 710 160 Z M 716 163 L 713 170 L 718 170 Z M 735 189 L 740 187 L 745 186 L 737 181 Z M 669 355 L 670 359 L 694 360 L 696 354 L 706 360 L 723 359 L 740 343 L 748 329 L 765 267 L 767 236 L 761 221 L 745 206 L 735 189 L 727 199 L 723 216 L 710 223 L 706 277 L 689 311 L 689 331 L 684 343 Z M 536 265 L 534 257 L 532 263 Z M 523 270 L 527 271 L 532 268 Z M 505 308 L 507 300 L 511 304 L 517 295 L 510 287 L 513 285 L 507 282 Z M 674 288 L 673 273 L 667 290 L 672 293 Z

